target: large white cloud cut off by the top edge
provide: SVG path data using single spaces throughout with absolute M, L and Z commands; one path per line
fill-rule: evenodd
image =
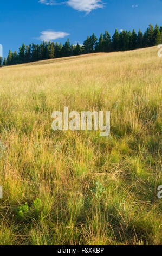
M 39 0 L 38 2 L 46 5 L 67 4 L 74 10 L 86 11 L 86 13 L 90 13 L 94 9 L 103 8 L 105 4 L 102 0 L 67 0 L 61 3 L 55 0 Z

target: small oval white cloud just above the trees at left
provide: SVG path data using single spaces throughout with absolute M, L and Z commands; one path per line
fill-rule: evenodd
M 52 30 L 42 31 L 40 34 L 41 34 L 40 37 L 36 39 L 39 39 L 41 41 L 57 40 L 59 38 L 64 38 L 65 36 L 69 35 L 66 32 L 52 31 Z

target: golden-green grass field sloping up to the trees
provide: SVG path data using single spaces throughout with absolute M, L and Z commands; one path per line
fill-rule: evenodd
M 157 47 L 0 70 L 0 245 L 160 245 Z M 53 111 L 110 111 L 111 135 L 53 131 Z

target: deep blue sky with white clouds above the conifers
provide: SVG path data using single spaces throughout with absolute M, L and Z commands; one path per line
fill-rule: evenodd
M 149 23 L 162 26 L 162 0 L 4 0 L 0 1 L 0 44 L 3 56 L 9 49 L 43 39 L 62 44 L 82 43 L 87 36 L 99 36 L 106 29 L 141 28 Z

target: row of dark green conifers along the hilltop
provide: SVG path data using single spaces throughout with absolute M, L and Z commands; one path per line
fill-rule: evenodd
M 138 34 L 133 31 L 115 30 L 114 35 L 109 35 L 108 31 L 101 33 L 99 39 L 93 34 L 81 44 L 70 44 L 69 39 L 62 44 L 57 42 L 43 41 L 39 44 L 29 44 L 29 46 L 22 46 L 19 52 L 14 53 L 9 50 L 7 58 L 0 58 L 0 65 L 16 65 L 28 62 L 36 62 L 38 60 L 61 58 L 68 56 L 76 56 L 80 54 L 94 53 L 94 52 L 114 52 L 135 50 L 137 48 L 151 47 L 162 43 L 162 27 L 150 24 L 144 34 L 139 29 Z

